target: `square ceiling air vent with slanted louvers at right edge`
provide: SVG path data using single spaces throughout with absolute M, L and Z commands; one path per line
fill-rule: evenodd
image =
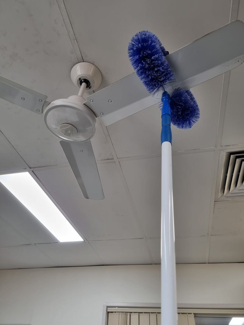
M 244 196 L 244 151 L 225 152 L 220 196 Z

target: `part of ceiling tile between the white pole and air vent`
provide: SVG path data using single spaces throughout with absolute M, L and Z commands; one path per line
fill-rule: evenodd
M 173 155 L 176 237 L 208 234 L 213 164 L 213 151 Z

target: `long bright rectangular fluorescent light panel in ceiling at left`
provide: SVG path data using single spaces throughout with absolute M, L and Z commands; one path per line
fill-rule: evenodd
M 0 175 L 0 182 L 61 242 L 83 241 L 29 173 Z

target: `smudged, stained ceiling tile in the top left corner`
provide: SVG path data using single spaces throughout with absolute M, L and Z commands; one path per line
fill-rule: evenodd
M 1 75 L 48 96 L 77 93 L 70 71 L 77 59 L 55 0 L 1 3 Z

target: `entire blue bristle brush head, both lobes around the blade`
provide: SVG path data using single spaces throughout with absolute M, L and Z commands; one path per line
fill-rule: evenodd
M 164 89 L 174 78 L 165 50 L 155 34 L 142 31 L 135 34 L 128 46 L 129 60 L 149 93 Z M 170 98 L 171 123 L 179 129 L 190 129 L 200 117 L 197 101 L 190 90 L 175 89 Z M 160 105 L 162 108 L 162 103 Z

